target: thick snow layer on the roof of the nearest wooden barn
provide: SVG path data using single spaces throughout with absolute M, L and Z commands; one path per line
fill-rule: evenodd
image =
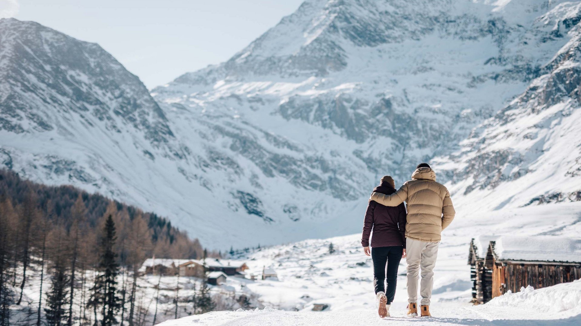
M 581 239 L 558 236 L 498 237 L 494 243 L 497 260 L 581 262 Z

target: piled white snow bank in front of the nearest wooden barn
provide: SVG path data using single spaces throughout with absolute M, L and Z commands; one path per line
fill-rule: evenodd
M 514 310 L 536 310 L 539 313 L 571 317 L 581 314 L 581 280 L 533 289 L 530 285 L 520 292 L 498 296 L 486 303 L 487 308 L 511 307 Z

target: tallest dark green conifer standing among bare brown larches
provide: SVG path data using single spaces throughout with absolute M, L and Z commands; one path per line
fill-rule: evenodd
M 95 292 L 102 294 L 100 302 L 103 313 L 102 326 L 118 324 L 115 315 L 121 307 L 116 281 L 119 274 L 119 265 L 117 264 L 117 253 L 113 251 L 115 241 L 115 223 L 113 222 L 113 216 L 109 215 L 105 222 L 105 227 L 103 227 L 101 238 L 100 273 L 95 280 Z

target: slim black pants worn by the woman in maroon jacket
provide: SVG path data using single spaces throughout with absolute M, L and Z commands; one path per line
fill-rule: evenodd
M 385 292 L 385 296 L 388 297 L 388 305 L 392 303 L 393 297 L 396 295 L 397 267 L 399 267 L 402 253 L 403 247 L 400 245 L 371 248 L 375 294 Z M 384 285 L 385 281 L 388 283 L 387 290 Z

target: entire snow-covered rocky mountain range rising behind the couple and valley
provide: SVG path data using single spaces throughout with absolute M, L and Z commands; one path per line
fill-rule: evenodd
M 220 248 L 354 233 L 382 175 L 432 159 L 461 214 L 568 198 L 580 8 L 308 0 L 153 99 L 98 45 L 2 20 L 0 161 Z

